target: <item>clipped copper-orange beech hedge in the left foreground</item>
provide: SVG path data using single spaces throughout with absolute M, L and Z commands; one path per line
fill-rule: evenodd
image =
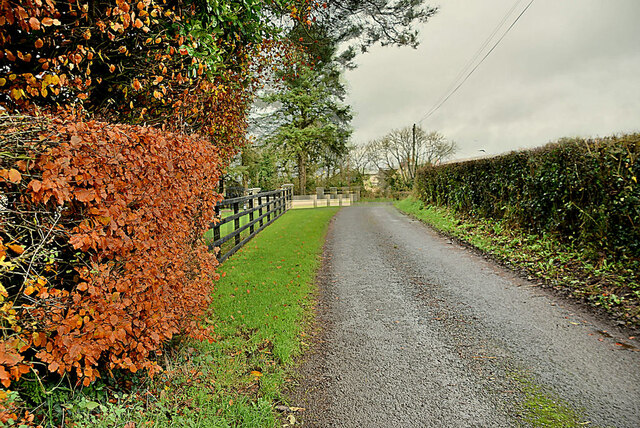
M 216 147 L 71 117 L 0 122 L 2 384 L 153 374 L 174 335 L 210 337 Z

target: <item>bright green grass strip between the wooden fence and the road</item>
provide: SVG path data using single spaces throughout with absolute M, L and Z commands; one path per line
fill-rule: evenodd
M 303 349 L 320 255 L 337 211 L 291 210 L 260 232 L 218 269 L 223 277 L 208 316 L 216 341 L 175 344 L 165 372 L 146 394 L 137 391 L 149 404 L 124 405 L 128 419 L 119 425 L 111 421 L 123 406 L 103 403 L 99 417 L 77 412 L 78 426 L 127 420 L 156 427 L 278 426 L 273 406 L 284 400 Z

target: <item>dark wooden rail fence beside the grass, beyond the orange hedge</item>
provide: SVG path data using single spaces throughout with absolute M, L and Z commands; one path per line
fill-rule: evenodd
M 291 208 L 292 200 L 293 184 L 285 184 L 282 189 L 223 199 L 218 202 L 215 209 L 216 217 L 219 221 L 211 224 L 213 242 L 209 244 L 209 250 L 213 250 L 216 247 L 220 248 L 218 261 L 220 263 L 224 262 L 256 236 L 258 232 L 269 226 Z M 221 214 L 224 209 L 231 210 L 232 213 L 222 218 Z M 248 221 L 243 226 L 240 226 L 240 219 L 245 216 L 248 217 Z M 233 230 L 221 236 L 221 226 L 229 223 L 233 225 Z M 241 236 L 245 231 L 248 231 L 249 234 L 246 235 L 245 233 L 246 236 Z M 231 240 L 233 240 L 231 243 L 233 246 L 229 248 L 231 244 L 227 243 Z

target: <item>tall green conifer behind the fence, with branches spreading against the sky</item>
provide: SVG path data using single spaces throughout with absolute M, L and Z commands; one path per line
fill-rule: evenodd
M 281 145 L 282 157 L 296 159 L 301 193 L 306 190 L 310 163 L 319 161 L 327 178 L 333 167 L 344 163 L 351 114 L 339 106 L 346 94 L 340 83 L 342 72 L 354 66 L 357 52 L 366 52 L 375 43 L 415 47 L 416 25 L 436 12 L 424 3 L 328 1 L 313 10 L 308 20 L 296 21 L 288 30 L 288 40 L 301 48 L 303 67 L 291 67 L 279 75 L 279 85 L 262 98 L 277 106 L 271 117 L 275 121 L 260 123 L 261 133 L 270 135 L 271 144 Z

